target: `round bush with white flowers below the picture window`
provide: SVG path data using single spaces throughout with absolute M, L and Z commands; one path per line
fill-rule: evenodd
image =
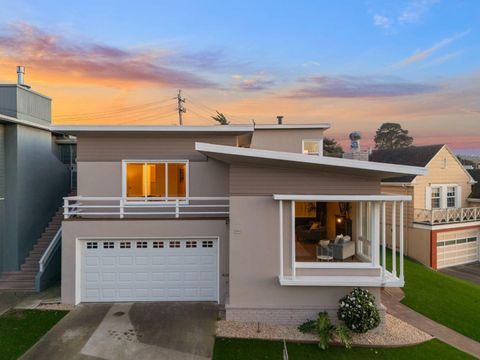
M 356 288 L 340 299 L 338 318 L 356 333 L 365 333 L 380 324 L 375 296 L 368 290 Z

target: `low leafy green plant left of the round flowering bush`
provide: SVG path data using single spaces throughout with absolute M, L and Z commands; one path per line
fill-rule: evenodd
M 304 322 L 298 327 L 298 330 L 302 333 L 316 332 L 318 335 L 318 347 L 322 350 L 329 348 L 334 333 L 337 334 L 338 338 L 347 349 L 350 349 L 352 346 L 352 334 L 350 329 L 345 325 L 332 325 L 326 312 L 319 313 L 317 320 L 308 320 Z

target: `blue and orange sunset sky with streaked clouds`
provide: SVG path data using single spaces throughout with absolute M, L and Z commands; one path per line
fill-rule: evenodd
M 0 82 L 26 67 L 55 123 L 329 122 L 364 144 L 480 154 L 480 1 L 4 1 Z

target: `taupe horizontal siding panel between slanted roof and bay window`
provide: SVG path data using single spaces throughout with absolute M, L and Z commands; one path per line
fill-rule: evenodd
M 372 195 L 379 193 L 379 178 L 321 170 L 251 165 L 230 166 L 231 195 Z

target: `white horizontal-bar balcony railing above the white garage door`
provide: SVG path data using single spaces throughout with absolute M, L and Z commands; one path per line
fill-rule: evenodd
M 228 197 L 85 197 L 64 198 L 65 219 L 226 217 Z

